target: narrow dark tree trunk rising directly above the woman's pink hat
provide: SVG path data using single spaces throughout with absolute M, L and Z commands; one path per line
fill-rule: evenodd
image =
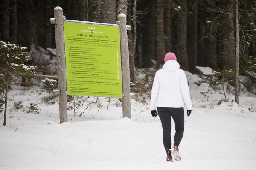
M 164 9 L 164 21 L 165 21 L 165 53 L 171 52 L 171 5 L 168 4 Z

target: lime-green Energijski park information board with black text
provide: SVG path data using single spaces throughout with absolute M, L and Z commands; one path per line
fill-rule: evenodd
M 67 95 L 122 97 L 119 26 L 64 22 Z

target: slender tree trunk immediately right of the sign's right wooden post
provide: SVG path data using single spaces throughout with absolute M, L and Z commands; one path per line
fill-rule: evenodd
M 136 7 L 137 0 L 129 0 L 129 10 L 128 10 L 128 25 L 132 27 L 131 31 L 128 31 L 128 46 L 129 46 L 129 67 L 130 67 L 130 79 L 134 80 L 135 71 L 135 55 L 136 55 L 136 40 L 137 40 L 137 19 L 136 19 Z M 130 17 L 131 16 L 131 17 Z

